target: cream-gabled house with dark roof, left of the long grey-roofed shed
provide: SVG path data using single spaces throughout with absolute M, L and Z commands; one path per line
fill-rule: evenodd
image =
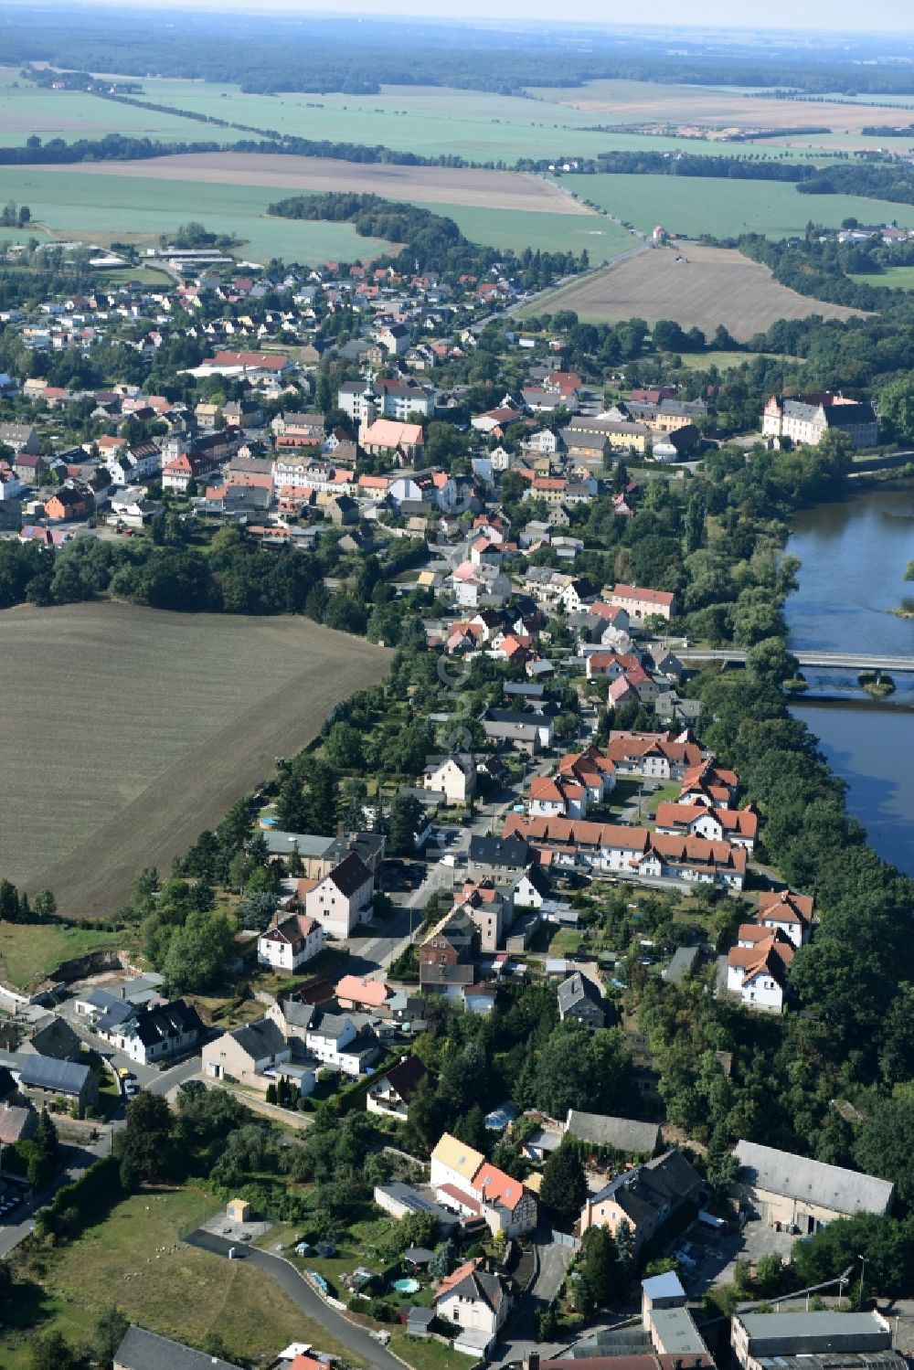
M 615 1175 L 599 1193 L 588 1196 L 581 1211 L 581 1232 L 608 1228 L 613 1236 L 622 1222 L 634 1234 L 634 1251 L 641 1249 L 658 1229 L 687 1203 L 697 1204 L 703 1181 L 685 1156 L 676 1149 Z

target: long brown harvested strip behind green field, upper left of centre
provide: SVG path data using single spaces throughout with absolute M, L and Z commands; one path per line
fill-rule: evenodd
M 38 170 L 23 167 L 22 170 Z M 56 167 L 41 167 L 55 171 Z M 104 162 L 78 162 L 60 171 L 111 175 Z M 286 158 L 256 152 L 200 152 L 144 162 L 118 162 L 118 177 L 192 181 L 195 185 L 273 186 L 280 190 L 356 190 L 391 200 L 478 206 L 488 210 L 540 210 L 591 214 L 582 204 L 540 177 L 517 171 L 470 171 L 456 167 L 403 167 L 336 162 L 330 158 Z

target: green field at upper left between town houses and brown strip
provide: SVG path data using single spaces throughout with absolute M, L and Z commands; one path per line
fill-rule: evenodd
M 329 258 L 367 260 L 385 249 L 377 238 L 360 238 L 348 223 L 267 218 L 267 206 L 284 193 L 266 186 L 195 186 L 186 181 L 127 178 L 118 177 L 115 170 L 111 175 L 90 177 L 42 169 L 3 171 L 4 199 L 27 204 L 33 219 L 63 237 L 100 244 L 125 237 L 152 241 L 188 219 L 200 219 L 215 233 L 244 238 L 240 256 L 258 262 L 271 256 L 307 264 Z M 25 237 L 15 230 L 15 240 Z

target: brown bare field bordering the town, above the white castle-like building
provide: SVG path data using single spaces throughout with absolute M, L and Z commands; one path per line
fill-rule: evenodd
M 671 248 L 655 248 L 607 267 L 596 275 L 537 300 L 533 314 L 574 310 L 581 319 L 674 319 L 708 336 L 722 323 L 740 342 L 763 333 L 778 319 L 859 316 L 859 310 L 824 304 L 780 285 L 761 262 L 732 248 L 684 244 L 688 260 Z

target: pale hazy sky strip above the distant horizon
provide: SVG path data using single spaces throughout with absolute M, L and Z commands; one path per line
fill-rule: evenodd
M 111 0 L 114 3 L 114 0 Z M 765 0 L 763 4 L 734 4 L 733 0 L 651 0 L 650 4 L 630 4 L 606 0 L 569 0 L 556 5 L 555 0 L 445 0 L 443 5 L 430 5 L 429 0 L 343 0 L 340 4 L 308 3 L 308 0 L 163 0 L 160 5 L 151 0 L 116 0 L 122 7 L 162 10 L 241 10 L 248 14 L 282 11 L 307 14 L 400 14 L 422 18 L 510 18 L 510 19 L 556 19 L 570 23 L 611 25 L 721 25 L 745 27 L 818 29 L 833 36 L 840 32 L 895 30 L 914 32 L 913 0 Z

